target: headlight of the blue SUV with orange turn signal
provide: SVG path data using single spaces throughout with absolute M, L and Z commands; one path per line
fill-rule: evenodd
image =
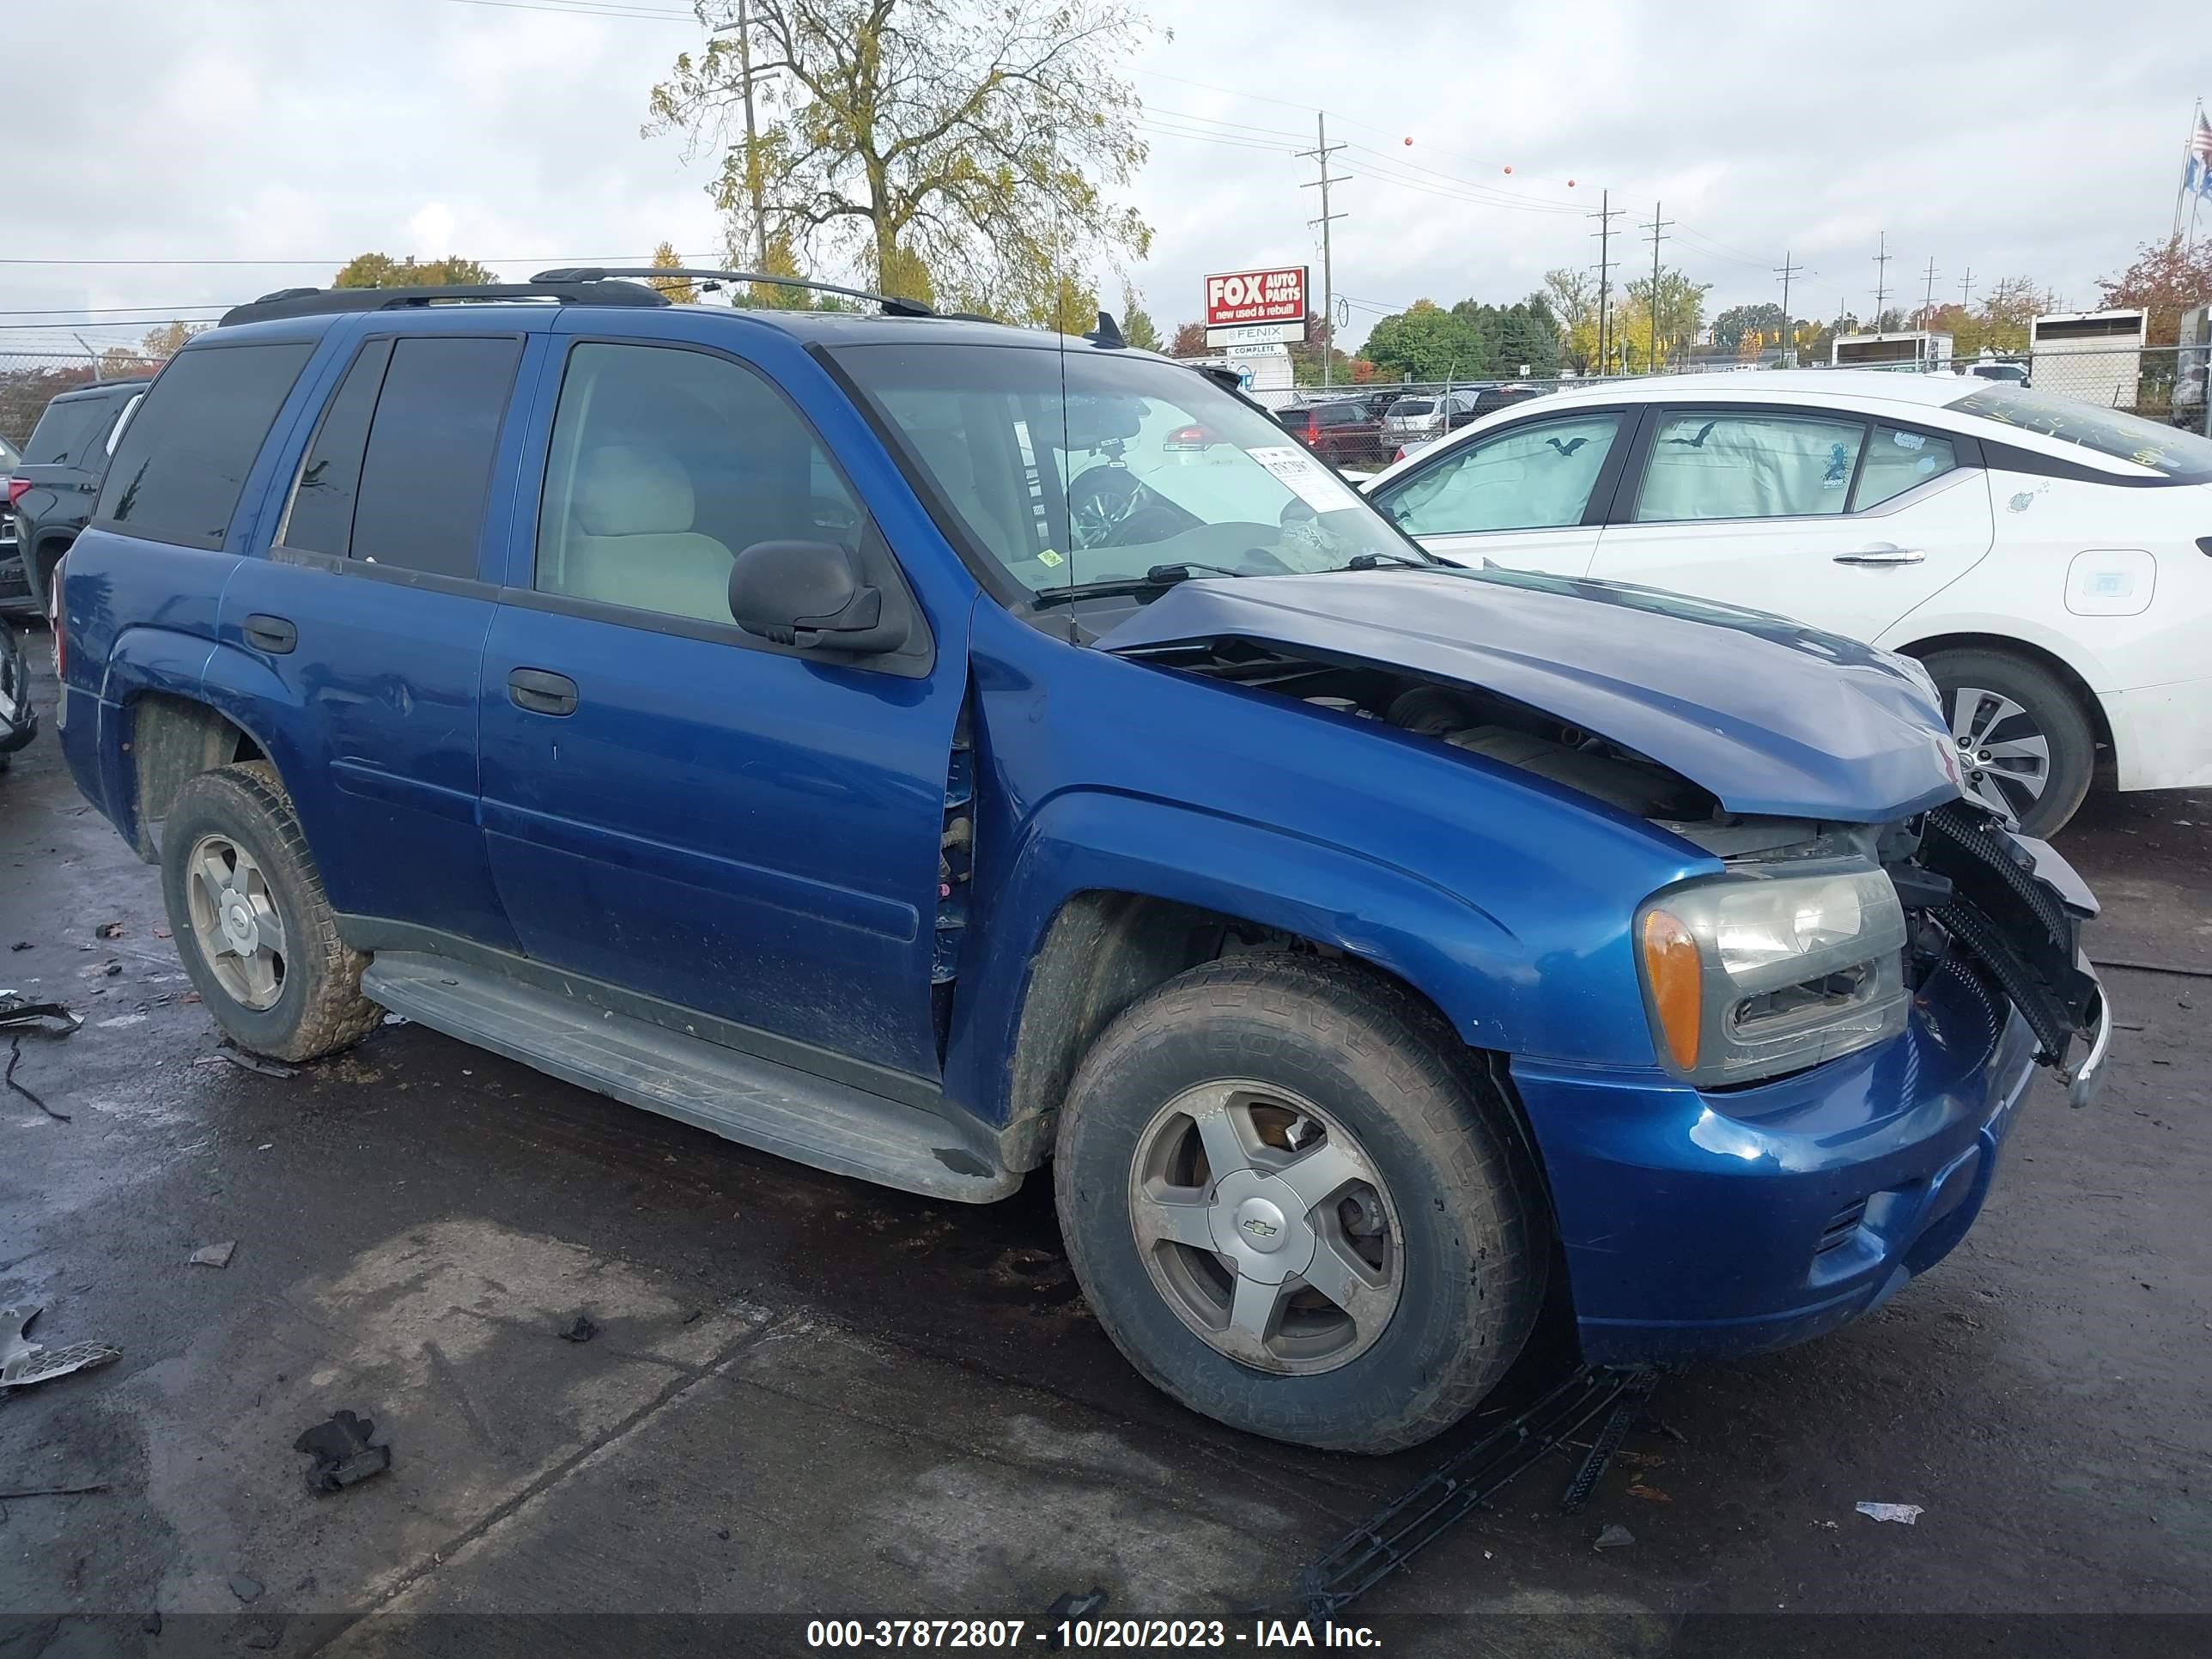
M 1637 914 L 1652 1040 L 1683 1079 L 1803 1071 L 1905 1029 L 1905 909 L 1858 860 L 1732 869 Z

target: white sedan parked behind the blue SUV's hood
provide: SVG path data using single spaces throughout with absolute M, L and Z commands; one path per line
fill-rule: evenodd
M 2212 785 L 2212 440 L 1951 374 L 1657 376 L 1360 484 L 1429 551 L 1674 588 L 1918 657 L 1966 787 L 2051 834 Z M 1845 739 L 1847 734 L 1838 734 Z

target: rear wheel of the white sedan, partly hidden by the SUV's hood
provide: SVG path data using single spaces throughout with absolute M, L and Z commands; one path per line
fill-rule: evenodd
M 2073 688 L 2008 650 L 1933 650 L 1924 666 L 1966 794 L 2020 818 L 2022 834 L 2064 830 L 2097 770 L 2097 734 Z

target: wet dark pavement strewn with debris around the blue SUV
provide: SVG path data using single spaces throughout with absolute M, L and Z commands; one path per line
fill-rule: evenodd
M 2095 956 L 2212 969 L 2212 794 L 2095 799 L 2059 847 L 2108 905 Z M 0 1303 L 122 1349 L 0 1396 L 0 1491 L 104 1486 L 0 1500 L 9 1659 L 672 1635 L 584 1615 L 801 1619 L 719 1628 L 723 1652 L 807 1617 L 1033 1637 L 1093 1586 L 1252 1646 L 1250 1610 L 1451 1444 L 1303 1453 L 1152 1394 L 1084 1310 L 1044 1179 L 907 1199 L 418 1026 L 296 1077 L 228 1064 L 155 872 L 51 732 L 0 779 L 0 987 L 86 1015 L 15 1066 L 69 1121 L 0 1093 Z M 1942 1267 L 1820 1343 L 1666 1380 L 1666 1433 L 1582 1515 L 1553 1455 L 1352 1617 L 1396 1652 L 1475 1628 L 1644 1655 L 1712 1613 L 2212 1610 L 2212 980 L 2108 984 L 2104 1104 L 2037 1084 Z M 221 1241 L 226 1267 L 190 1263 Z M 560 1340 L 577 1314 L 597 1336 Z M 316 1495 L 292 1442 L 336 1409 L 394 1464 Z M 1595 1551 L 1606 1526 L 1635 1542 Z M 2028 1619 L 2006 1650 L 2086 1630 Z

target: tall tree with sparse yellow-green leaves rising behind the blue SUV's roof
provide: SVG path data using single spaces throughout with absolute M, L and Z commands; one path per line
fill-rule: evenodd
M 1150 243 L 1113 201 L 1146 157 L 1119 66 L 1148 33 L 1130 0 L 750 0 L 759 137 L 728 31 L 677 58 L 648 131 L 723 146 L 710 190 L 732 243 L 754 241 L 757 181 L 765 230 L 801 261 L 1053 316 L 1075 272 Z

